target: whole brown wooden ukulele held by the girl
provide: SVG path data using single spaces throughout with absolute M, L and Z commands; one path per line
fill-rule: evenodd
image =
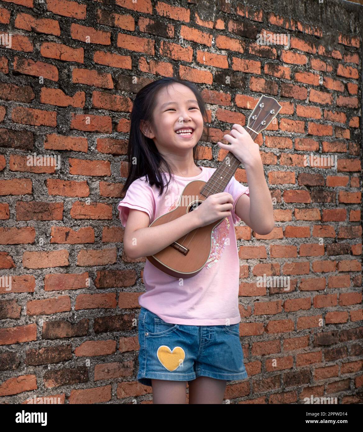
M 269 96 L 261 96 L 255 109 L 249 116 L 248 125 L 246 126 L 246 130 L 253 140 L 256 139 L 262 130 L 267 128 L 281 108 L 282 106 L 276 99 Z M 239 159 L 232 152 L 228 152 L 207 182 L 201 180 L 189 182 L 179 197 L 178 206 L 156 218 L 150 223 L 149 227 L 171 222 L 185 213 L 195 210 L 210 195 L 223 192 L 240 163 Z M 203 269 L 209 259 L 212 248 L 213 229 L 222 223 L 224 219 L 196 228 L 174 241 L 171 245 L 146 258 L 156 268 L 169 276 L 175 278 L 195 276 Z

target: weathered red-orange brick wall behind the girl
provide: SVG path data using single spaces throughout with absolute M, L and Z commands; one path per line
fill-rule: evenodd
M 217 141 L 261 93 L 283 107 L 257 138 L 275 228 L 236 227 L 249 378 L 226 399 L 362 403 L 362 6 L 175 3 L 1 2 L 0 400 L 151 403 L 136 380 L 145 260 L 124 254 L 117 204 L 134 95 L 186 73 L 210 115 L 201 165 L 223 159 Z M 264 30 L 290 48 L 257 44 Z M 51 159 L 29 165 L 34 153 Z M 304 165 L 311 154 L 337 169 Z M 290 291 L 257 290 L 264 273 Z

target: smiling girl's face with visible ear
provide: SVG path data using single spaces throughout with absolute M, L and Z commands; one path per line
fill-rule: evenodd
M 191 132 L 177 133 L 178 130 L 188 129 Z M 159 151 L 183 154 L 185 150 L 193 149 L 202 133 L 203 117 L 191 89 L 173 83 L 160 90 L 153 113 L 153 126 L 147 133 Z

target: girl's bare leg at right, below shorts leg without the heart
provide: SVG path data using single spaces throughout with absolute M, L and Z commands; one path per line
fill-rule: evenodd
M 210 377 L 198 377 L 189 383 L 189 404 L 223 403 L 227 381 Z

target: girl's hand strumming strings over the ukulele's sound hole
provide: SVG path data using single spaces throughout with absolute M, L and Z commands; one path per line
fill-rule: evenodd
M 233 197 L 228 192 L 220 192 L 207 197 L 193 213 L 198 218 L 199 226 L 206 226 L 210 223 L 232 216 Z

